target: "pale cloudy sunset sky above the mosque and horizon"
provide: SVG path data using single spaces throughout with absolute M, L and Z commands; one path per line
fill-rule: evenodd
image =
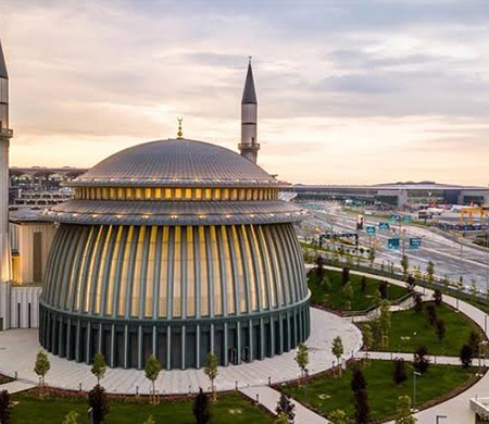
M 489 184 L 488 1 L 1 0 L 11 165 L 89 167 L 186 138 L 283 180 Z

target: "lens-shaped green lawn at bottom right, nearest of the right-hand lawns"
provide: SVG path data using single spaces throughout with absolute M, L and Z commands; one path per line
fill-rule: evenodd
M 396 386 L 392 379 L 391 361 L 371 361 L 363 370 L 367 383 L 371 420 L 388 419 L 396 414 L 399 396 L 413 397 L 413 369 L 406 363 L 408 381 Z M 475 369 L 463 370 L 461 366 L 430 365 L 421 377 L 416 377 L 416 407 L 451 392 L 455 387 L 467 383 Z M 281 389 L 301 403 L 315 409 L 327 416 L 329 412 L 341 409 L 353 417 L 353 392 L 350 387 L 351 371 L 341 378 L 322 375 L 312 378 L 308 385 L 297 387 L 283 386 Z

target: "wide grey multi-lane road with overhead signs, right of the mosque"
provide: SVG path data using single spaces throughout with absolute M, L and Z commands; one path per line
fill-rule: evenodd
M 387 248 L 388 238 L 399 236 L 399 224 L 390 224 L 391 230 L 379 232 L 378 223 L 386 221 L 373 216 L 364 216 L 364 228 L 367 225 L 376 226 L 376 235 L 371 237 L 365 230 L 359 232 L 360 246 L 369 247 L 375 244 L 376 262 L 385 263 L 386 269 L 389 262 L 400 265 L 402 258 L 402 240 L 405 240 L 404 251 L 410 261 L 410 269 L 419 266 L 426 271 L 428 261 L 435 264 L 435 273 L 447 276 L 452 282 L 459 282 L 463 277 L 463 284 L 468 288 L 474 282 L 479 290 L 486 292 L 489 288 L 489 251 L 464 246 L 456 240 L 449 239 L 442 235 L 435 234 L 431 229 L 402 223 L 401 226 L 401 249 L 389 250 Z M 344 212 L 341 207 L 335 203 L 326 203 L 323 211 L 311 211 L 311 215 L 304 222 L 300 233 L 303 236 L 311 236 L 321 232 L 356 232 L 356 216 Z M 422 247 L 419 249 L 409 248 L 410 237 L 421 237 Z

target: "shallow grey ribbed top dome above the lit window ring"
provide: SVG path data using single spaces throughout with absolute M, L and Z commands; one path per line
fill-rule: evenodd
M 122 150 L 93 166 L 75 185 L 276 185 L 277 180 L 240 154 L 188 139 L 150 141 Z

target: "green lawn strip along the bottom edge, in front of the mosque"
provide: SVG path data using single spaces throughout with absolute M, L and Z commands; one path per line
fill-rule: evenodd
M 18 402 L 12 414 L 11 424 L 61 424 L 70 411 L 78 412 L 79 424 L 88 424 L 87 401 L 79 397 L 53 397 L 39 400 L 32 394 L 15 395 Z M 156 424 L 193 424 L 191 400 L 162 401 L 158 406 L 147 402 L 133 403 L 114 400 L 110 403 L 110 412 L 105 424 L 142 424 L 152 414 Z M 212 404 L 213 424 L 269 424 L 274 419 L 267 412 L 252 404 L 251 401 L 237 394 L 220 395 Z

